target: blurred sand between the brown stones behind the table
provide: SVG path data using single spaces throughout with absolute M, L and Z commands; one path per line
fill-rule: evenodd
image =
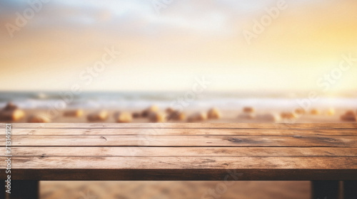
M 23 119 L 19 119 L 16 122 L 27 122 L 29 116 L 31 115 L 47 115 L 47 117 L 50 118 L 51 122 L 53 123 L 66 123 L 66 122 L 71 122 L 71 123 L 86 123 L 89 122 L 87 120 L 87 115 L 91 114 L 93 112 L 99 112 L 101 109 L 84 109 L 83 110 L 83 115 L 81 117 L 64 117 L 64 112 L 66 110 L 61 110 L 61 112 L 58 112 L 57 114 L 49 114 L 49 112 L 46 109 L 24 109 L 25 112 L 25 117 Z M 248 119 L 245 117 L 238 117 L 239 115 L 243 114 L 241 109 L 218 109 L 221 118 L 220 119 L 205 119 L 200 122 L 211 122 L 211 123 L 262 123 L 262 122 L 271 122 L 270 119 L 263 119 L 262 117 L 256 117 L 255 119 Z M 331 115 L 328 114 L 328 109 L 321 111 L 321 114 L 309 114 L 308 112 L 306 114 L 300 114 L 296 119 L 281 119 L 280 121 L 277 122 L 285 122 L 285 123 L 323 123 L 323 122 L 353 122 L 353 121 L 342 121 L 341 120 L 341 115 L 344 114 L 348 109 L 336 109 L 335 114 Z M 129 112 L 129 113 L 134 113 L 134 112 L 141 112 L 141 109 L 107 109 L 109 113 L 108 119 L 104 121 L 96 121 L 96 122 L 101 122 L 101 123 L 115 123 L 116 119 L 114 118 L 114 114 L 116 112 Z M 161 109 L 162 112 L 164 112 L 164 109 Z M 186 116 L 190 116 L 196 112 L 207 112 L 208 109 L 189 109 L 189 110 L 184 110 L 183 114 L 186 114 Z M 262 110 L 256 110 L 255 115 L 259 114 L 276 114 L 280 115 L 281 112 L 288 112 L 289 110 L 283 111 L 283 110 L 273 110 L 273 109 L 262 109 Z M 10 122 L 10 121 L 1 121 L 1 122 Z M 132 120 L 133 123 L 143 123 L 143 122 L 150 122 L 149 117 L 134 117 Z M 174 120 L 174 119 L 168 119 L 167 122 L 187 122 L 187 120 Z

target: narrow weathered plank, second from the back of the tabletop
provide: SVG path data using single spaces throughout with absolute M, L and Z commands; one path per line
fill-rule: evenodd
M 1 131 L 5 134 L 5 131 Z M 13 135 L 345 135 L 357 136 L 357 129 L 12 129 Z

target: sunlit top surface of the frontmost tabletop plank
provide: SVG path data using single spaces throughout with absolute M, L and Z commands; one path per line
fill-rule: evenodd
M 350 169 L 357 172 L 357 157 L 13 156 L 11 160 L 11 169 Z

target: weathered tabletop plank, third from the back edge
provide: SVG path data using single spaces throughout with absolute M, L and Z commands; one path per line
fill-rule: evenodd
M 4 146 L 5 137 L 0 137 Z M 12 146 L 330 146 L 356 147 L 356 136 L 11 136 Z

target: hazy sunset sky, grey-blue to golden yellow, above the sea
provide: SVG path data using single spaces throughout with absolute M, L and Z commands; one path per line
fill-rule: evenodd
M 357 1 L 43 1 L 0 0 L 0 90 L 357 91 Z

